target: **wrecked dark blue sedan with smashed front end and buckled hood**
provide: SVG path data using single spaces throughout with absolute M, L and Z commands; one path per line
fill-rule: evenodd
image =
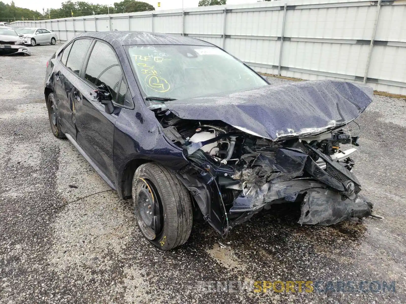
M 47 63 L 52 133 L 67 137 L 123 199 L 152 244 L 184 244 L 194 216 L 223 237 L 275 203 L 300 224 L 371 215 L 351 172 L 350 124 L 371 88 L 344 81 L 270 86 L 189 37 L 91 32 Z

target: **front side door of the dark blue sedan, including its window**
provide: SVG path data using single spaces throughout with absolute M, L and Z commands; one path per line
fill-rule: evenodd
M 78 87 L 81 101 L 75 101 L 76 140 L 110 180 L 114 180 L 113 139 L 114 124 L 120 112 L 117 107 L 123 73 L 116 53 L 110 45 L 95 40 L 84 65 L 82 83 Z M 105 86 L 110 92 L 114 112 L 109 114 L 95 98 L 97 86 Z M 127 90 L 125 84 L 123 88 Z M 121 90 L 123 94 L 123 90 Z

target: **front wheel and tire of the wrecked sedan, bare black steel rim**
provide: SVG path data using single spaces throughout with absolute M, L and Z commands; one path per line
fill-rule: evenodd
M 161 250 L 186 243 L 192 231 L 192 201 L 173 171 L 157 163 L 140 165 L 132 199 L 138 227 L 149 242 Z

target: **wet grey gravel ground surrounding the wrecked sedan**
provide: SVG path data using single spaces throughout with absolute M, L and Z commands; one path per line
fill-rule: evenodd
M 43 78 L 58 47 L 0 58 L 1 303 L 406 302 L 404 99 L 375 96 L 357 120 L 354 173 L 383 220 L 300 227 L 294 210 L 281 207 L 233 229 L 227 248 L 197 223 L 185 246 L 162 252 L 114 191 L 67 204 L 108 185 L 50 131 Z M 201 283 L 225 280 L 367 281 L 367 291 L 207 292 Z M 395 292 L 369 292 L 373 280 L 396 281 Z

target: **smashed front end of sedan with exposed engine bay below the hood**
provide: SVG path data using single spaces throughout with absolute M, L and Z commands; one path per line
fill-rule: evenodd
M 274 203 L 301 202 L 298 223 L 331 225 L 371 214 L 350 172 L 358 146 L 348 124 L 304 137 L 270 140 L 219 120 L 181 119 L 165 106 L 150 107 L 166 138 L 190 165 L 177 173 L 206 221 L 223 238 Z

